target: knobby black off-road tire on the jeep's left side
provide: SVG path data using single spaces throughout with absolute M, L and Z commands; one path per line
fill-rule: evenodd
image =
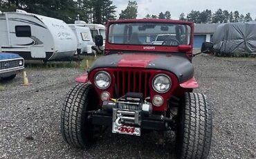
M 93 125 L 86 111 L 95 110 L 95 94 L 91 84 L 77 84 L 69 91 L 61 115 L 61 133 L 72 147 L 88 148 L 95 141 Z

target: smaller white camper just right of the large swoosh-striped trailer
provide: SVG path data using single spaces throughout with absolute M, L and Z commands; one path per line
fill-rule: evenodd
M 77 53 L 78 54 L 91 54 L 93 53 L 92 46 L 95 46 L 91 31 L 87 27 L 82 26 L 69 26 L 77 38 Z

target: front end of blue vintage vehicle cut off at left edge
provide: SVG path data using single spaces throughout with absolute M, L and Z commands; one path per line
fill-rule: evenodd
M 0 78 L 13 79 L 24 69 L 24 59 L 15 53 L 0 53 Z

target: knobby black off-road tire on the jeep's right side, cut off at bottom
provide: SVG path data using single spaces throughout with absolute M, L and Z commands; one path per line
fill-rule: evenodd
M 205 95 L 185 93 L 176 131 L 178 158 L 207 158 L 212 140 L 212 109 Z

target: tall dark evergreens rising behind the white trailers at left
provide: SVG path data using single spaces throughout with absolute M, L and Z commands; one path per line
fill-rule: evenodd
M 2 12 L 16 9 L 62 19 L 66 23 L 80 19 L 104 24 L 109 19 L 116 19 L 116 6 L 111 0 L 0 0 Z

